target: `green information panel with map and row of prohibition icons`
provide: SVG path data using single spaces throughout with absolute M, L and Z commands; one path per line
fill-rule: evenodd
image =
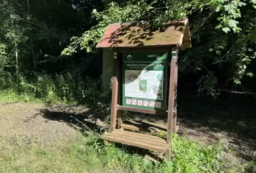
M 124 52 L 123 106 L 166 110 L 167 52 Z

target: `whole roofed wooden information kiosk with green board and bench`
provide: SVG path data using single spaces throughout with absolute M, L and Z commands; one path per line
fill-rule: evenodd
M 101 136 L 104 143 L 154 150 L 159 157 L 165 153 L 169 160 L 172 132 L 178 130 L 178 49 L 191 47 L 188 20 L 169 21 L 162 28 L 151 28 L 147 23 L 112 24 L 97 47 L 114 50 L 111 124 L 110 133 Z M 167 126 L 149 122 L 125 124 L 123 111 L 166 116 Z M 164 130 L 167 139 L 127 129 L 150 133 Z

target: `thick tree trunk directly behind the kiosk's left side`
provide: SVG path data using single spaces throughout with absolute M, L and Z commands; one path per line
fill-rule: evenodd
M 109 9 L 109 4 L 113 0 L 105 0 L 105 10 Z M 114 53 L 111 48 L 103 48 L 103 66 L 102 66 L 102 87 L 105 89 L 111 88 L 113 76 L 113 57 Z

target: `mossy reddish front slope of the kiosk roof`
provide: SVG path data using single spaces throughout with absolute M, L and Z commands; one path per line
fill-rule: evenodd
M 185 20 L 169 21 L 161 27 L 148 23 L 112 24 L 97 47 L 136 47 L 176 45 L 180 41 Z

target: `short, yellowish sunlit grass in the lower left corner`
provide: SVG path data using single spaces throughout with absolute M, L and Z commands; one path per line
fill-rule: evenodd
M 52 147 L 16 141 L 0 151 L 0 172 L 91 172 L 102 169 L 101 157 L 87 138 L 58 142 Z

